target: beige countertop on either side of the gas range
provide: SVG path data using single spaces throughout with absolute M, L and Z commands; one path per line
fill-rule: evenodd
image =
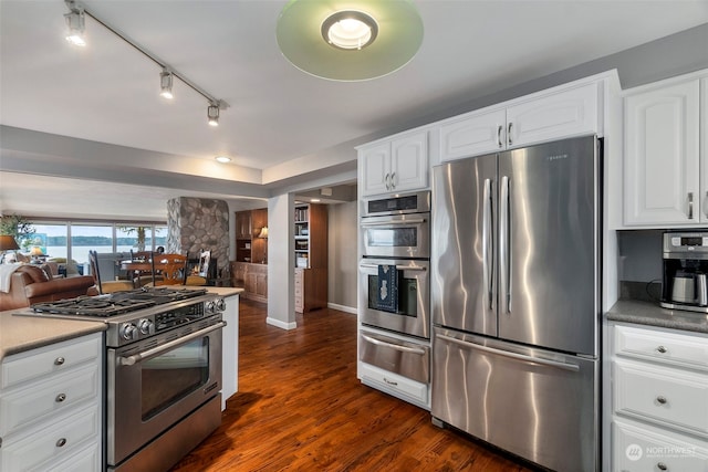
M 201 287 L 200 287 L 201 289 Z M 210 293 L 229 297 L 243 292 L 237 287 L 207 287 Z M 91 333 L 106 331 L 103 322 L 20 316 L 28 308 L 0 312 L 0 363 L 4 356 L 34 349 Z

